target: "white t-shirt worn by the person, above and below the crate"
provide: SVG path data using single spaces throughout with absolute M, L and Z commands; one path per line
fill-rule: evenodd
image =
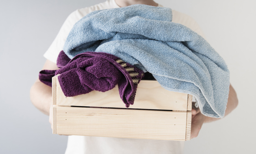
M 160 4 L 158 6 L 163 7 Z M 107 0 L 71 13 L 43 56 L 56 63 L 59 52 L 63 50 L 65 40 L 74 24 L 92 11 L 111 8 L 119 8 L 115 0 Z M 173 22 L 187 26 L 203 36 L 194 19 L 175 10 L 172 10 L 172 14 Z M 65 154 L 182 154 L 183 146 L 184 141 L 69 136 Z

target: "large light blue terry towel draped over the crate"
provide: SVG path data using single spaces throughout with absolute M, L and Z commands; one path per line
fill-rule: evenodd
M 165 89 L 195 96 L 205 116 L 222 118 L 227 65 L 202 36 L 171 20 L 171 9 L 142 4 L 94 11 L 74 25 L 63 49 L 69 58 L 87 51 L 113 54 L 152 73 Z

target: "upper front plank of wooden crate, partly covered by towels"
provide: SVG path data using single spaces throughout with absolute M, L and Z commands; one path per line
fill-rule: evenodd
M 57 79 L 57 78 L 56 78 Z M 74 97 L 66 97 L 56 80 L 57 105 L 125 108 L 118 87 L 107 92 L 92 91 Z M 165 109 L 187 111 L 188 94 L 165 90 L 157 81 L 142 80 L 138 84 L 133 109 Z

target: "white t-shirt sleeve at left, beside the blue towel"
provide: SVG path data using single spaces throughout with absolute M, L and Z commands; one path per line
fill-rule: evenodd
M 78 10 L 72 12 L 67 17 L 67 19 L 61 26 L 61 29 L 59 30 L 59 33 L 57 34 L 56 38 L 54 39 L 54 41 L 52 42 L 52 44 L 50 45 L 50 47 L 48 48 L 46 53 L 44 53 L 43 56 L 46 59 L 50 60 L 51 62 L 56 63 L 57 57 L 58 57 L 60 51 L 63 50 L 65 40 L 67 39 L 67 36 L 68 36 L 70 30 L 73 28 L 74 24 L 79 19 L 81 19 L 81 15 Z

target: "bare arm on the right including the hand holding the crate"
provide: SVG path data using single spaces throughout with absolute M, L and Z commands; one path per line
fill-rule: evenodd
M 225 116 L 227 116 L 231 111 L 233 111 L 238 105 L 238 99 L 236 96 L 236 92 L 234 88 L 231 86 L 229 87 L 229 94 L 228 94 L 228 103 L 227 108 L 225 111 Z M 220 118 L 212 118 L 202 115 L 200 109 L 192 108 L 192 124 L 191 124 L 191 139 L 197 137 L 200 129 L 202 128 L 203 123 L 212 122 L 215 120 L 219 120 Z

